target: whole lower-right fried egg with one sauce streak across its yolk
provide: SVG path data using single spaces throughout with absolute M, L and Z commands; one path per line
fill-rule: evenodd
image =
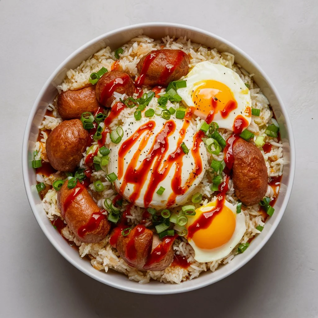
M 222 198 L 196 209 L 188 216 L 185 236 L 193 247 L 194 259 L 200 263 L 211 262 L 227 256 L 240 242 L 245 231 L 245 215 L 236 213 L 236 205 Z

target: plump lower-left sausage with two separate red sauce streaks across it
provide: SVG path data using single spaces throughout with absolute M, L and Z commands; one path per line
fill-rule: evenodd
M 79 182 L 73 189 L 67 181 L 58 192 L 58 206 L 68 227 L 84 243 L 97 243 L 109 232 L 110 224 L 86 188 Z

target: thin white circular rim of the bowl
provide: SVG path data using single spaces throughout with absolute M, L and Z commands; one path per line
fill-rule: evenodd
M 234 49 L 235 51 L 239 52 L 239 54 L 241 54 L 243 56 L 243 58 L 245 60 L 247 60 L 250 64 L 252 64 L 252 66 L 254 66 L 259 73 L 262 75 L 262 77 L 265 79 L 266 83 L 268 84 L 268 86 L 270 87 L 270 89 L 273 91 L 278 104 L 280 106 L 280 111 L 283 113 L 285 120 L 286 120 L 286 126 L 287 126 L 287 131 L 288 131 L 288 135 L 289 135 L 289 144 L 290 144 L 290 162 L 289 162 L 289 176 L 288 176 L 288 187 L 286 189 L 286 194 L 284 197 L 284 200 L 282 202 L 282 206 L 280 208 L 279 214 L 277 215 L 274 223 L 272 224 L 271 228 L 269 229 L 269 231 L 266 233 L 266 236 L 262 239 L 262 241 L 255 247 L 255 249 L 248 254 L 244 259 L 242 259 L 236 266 L 234 266 L 230 271 L 228 271 L 227 273 L 224 273 L 223 275 L 221 275 L 218 278 L 215 278 L 214 280 L 207 280 L 203 283 L 194 285 L 194 286 L 189 286 L 189 287 L 182 287 L 182 283 L 180 285 L 178 285 L 180 288 L 176 289 L 176 290 L 169 290 L 169 288 L 166 288 L 165 290 L 147 290 L 147 289 L 143 289 L 140 285 L 136 282 L 136 287 L 139 286 L 138 289 L 135 289 L 134 287 L 130 287 L 130 286 L 123 286 L 123 285 L 117 285 L 114 284 L 112 282 L 107 281 L 107 279 L 101 279 L 100 277 L 98 277 L 97 275 L 95 275 L 94 273 L 91 273 L 89 271 L 87 271 L 84 267 L 80 266 L 79 264 L 77 264 L 75 261 L 73 261 L 73 259 L 68 255 L 68 253 L 66 251 L 64 251 L 56 242 L 56 240 L 51 237 L 51 235 L 49 235 L 49 233 L 46 231 L 44 224 L 42 223 L 42 220 L 39 216 L 39 214 L 37 213 L 37 209 L 36 209 L 36 205 L 35 202 L 33 201 L 32 198 L 32 194 L 31 194 L 31 188 L 29 186 L 28 180 L 29 180 L 29 174 L 28 174 L 28 142 L 29 142 L 29 133 L 31 131 L 31 126 L 32 126 L 32 121 L 33 118 L 36 114 L 37 108 L 38 108 L 38 104 L 41 101 L 41 98 L 43 96 L 43 93 L 46 91 L 47 87 L 52 83 L 52 81 L 54 80 L 54 78 L 57 76 L 57 74 L 60 72 L 60 70 L 64 67 L 64 65 L 66 65 L 68 62 L 70 62 L 74 57 L 76 57 L 80 52 L 82 52 L 83 50 L 85 50 L 87 47 L 89 47 L 90 45 L 97 43 L 100 40 L 103 40 L 104 38 L 107 38 L 109 36 L 115 35 L 117 33 L 121 33 L 123 31 L 129 31 L 129 30 L 133 30 L 133 29 L 137 29 L 137 28 L 146 28 L 146 27 L 152 27 L 152 28 L 164 28 L 164 27 L 177 27 L 177 28 L 181 28 L 187 31 L 194 31 L 194 32 L 198 32 L 201 33 L 207 37 L 213 38 L 217 41 L 220 41 L 222 43 L 224 43 L 225 45 L 228 45 L 229 47 L 231 47 L 232 49 Z M 115 29 L 113 31 L 109 31 L 106 32 L 88 42 L 86 42 L 84 45 L 80 46 L 77 50 L 75 50 L 73 53 L 71 53 L 62 63 L 60 63 L 60 65 L 54 70 L 54 72 L 51 74 L 51 76 L 46 80 L 45 84 L 43 85 L 43 87 L 41 88 L 40 92 L 38 93 L 38 96 L 31 108 L 30 114 L 28 116 L 27 122 L 26 122 L 26 126 L 25 126 L 25 130 L 24 130 L 24 137 L 23 137 L 23 144 L 22 144 L 22 174 L 23 174 L 23 179 L 24 179 L 24 187 L 25 187 L 25 191 L 27 194 L 27 198 L 32 210 L 32 213 L 36 219 L 36 221 L 38 222 L 38 225 L 40 226 L 41 230 L 44 232 L 45 236 L 47 237 L 47 239 L 49 239 L 49 241 L 51 242 L 51 244 L 56 248 L 56 250 L 69 262 L 71 263 L 73 266 L 75 266 L 77 269 L 79 269 L 81 272 L 85 273 L 86 275 L 92 277 L 95 280 L 98 280 L 108 286 L 111 287 L 115 287 L 115 288 L 119 288 L 121 290 L 125 290 L 125 291 L 129 291 L 129 292 L 135 292 L 135 293 L 141 293 L 141 294 L 172 294 L 172 293 L 183 293 L 183 292 L 188 292 L 191 290 L 195 290 L 198 288 L 202 288 L 208 285 L 211 285 L 219 280 L 222 280 L 223 278 L 231 275 L 232 273 L 236 272 L 239 268 L 241 268 L 242 266 L 244 266 L 248 261 L 250 261 L 260 250 L 261 248 L 266 244 L 266 242 L 270 239 L 270 237 L 272 236 L 273 232 L 275 231 L 275 229 L 277 228 L 278 224 L 280 223 L 281 218 L 284 215 L 284 212 L 286 210 L 288 201 L 289 201 L 289 197 L 292 191 L 292 187 L 293 187 L 293 182 L 294 182 L 294 174 L 295 174 L 295 144 L 294 144 L 294 134 L 293 134 L 293 130 L 292 130 L 292 126 L 291 126 L 291 122 L 289 119 L 289 116 L 287 114 L 287 110 L 286 107 L 283 103 L 283 101 L 280 98 L 279 93 L 277 92 L 275 86 L 273 85 L 272 81 L 268 78 L 268 76 L 265 74 L 265 72 L 262 70 L 262 68 L 248 55 L 246 54 L 244 51 L 242 51 L 239 47 L 237 47 L 236 45 L 232 44 L 231 42 L 225 40 L 224 38 L 219 37 L 218 35 L 205 31 L 203 29 L 197 28 L 197 27 L 193 27 L 193 26 L 189 26 L 189 25 L 185 25 L 185 24 L 178 24 L 178 23 L 166 23 L 166 22 L 149 22 L 149 23 L 140 23 L 140 24 L 132 24 L 129 26 L 125 26 L 122 28 L 118 28 Z M 107 276 L 105 276 L 107 277 Z

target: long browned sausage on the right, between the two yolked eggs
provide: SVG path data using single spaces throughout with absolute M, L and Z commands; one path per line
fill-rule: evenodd
M 267 168 L 260 150 L 239 138 L 233 145 L 233 186 L 246 206 L 259 203 L 267 190 Z

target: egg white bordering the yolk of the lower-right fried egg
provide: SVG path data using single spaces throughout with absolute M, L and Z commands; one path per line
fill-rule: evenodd
M 197 245 L 194 243 L 192 239 L 188 239 L 188 242 L 192 246 L 195 253 L 194 259 L 200 263 L 212 262 L 214 260 L 218 260 L 218 259 L 222 259 L 226 257 L 228 254 L 232 252 L 233 248 L 239 244 L 240 240 L 244 236 L 244 233 L 246 231 L 244 213 L 241 211 L 240 213 L 236 214 L 236 205 L 233 206 L 231 203 L 227 202 L 226 200 L 225 200 L 225 206 L 228 207 L 233 212 L 236 219 L 235 230 L 233 232 L 231 239 L 227 243 L 217 248 L 208 250 L 208 249 L 202 249 L 197 247 Z M 204 209 L 206 211 L 210 211 L 211 206 L 204 207 L 203 205 L 201 207 L 201 211 L 205 211 Z

